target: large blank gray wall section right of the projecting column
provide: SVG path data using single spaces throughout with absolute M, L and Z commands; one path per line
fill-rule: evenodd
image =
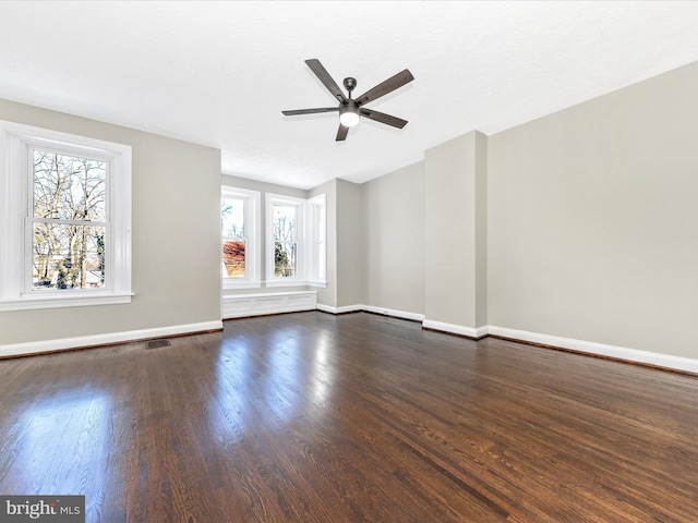
M 489 139 L 490 324 L 698 357 L 698 63 Z

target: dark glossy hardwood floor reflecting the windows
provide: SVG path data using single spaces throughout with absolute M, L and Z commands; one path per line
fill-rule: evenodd
M 696 522 L 698 378 L 365 313 L 0 361 L 0 494 L 88 522 Z

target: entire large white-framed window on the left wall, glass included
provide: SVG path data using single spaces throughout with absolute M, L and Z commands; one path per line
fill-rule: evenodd
M 0 122 L 0 311 L 131 301 L 131 147 Z

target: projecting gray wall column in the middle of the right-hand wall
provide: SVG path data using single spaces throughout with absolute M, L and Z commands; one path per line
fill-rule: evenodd
M 486 323 L 486 136 L 470 132 L 425 154 L 428 320 Z

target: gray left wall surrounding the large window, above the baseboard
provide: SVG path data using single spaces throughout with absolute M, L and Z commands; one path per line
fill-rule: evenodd
M 133 150 L 131 304 L 0 313 L 0 344 L 220 320 L 220 151 L 0 100 L 0 119 Z

